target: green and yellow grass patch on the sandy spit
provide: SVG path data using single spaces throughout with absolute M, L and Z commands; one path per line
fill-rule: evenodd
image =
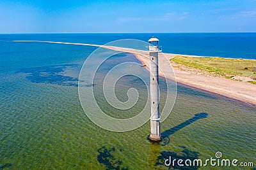
M 177 55 L 171 61 L 187 67 L 208 71 L 211 74 L 233 78 L 234 76 L 248 76 L 256 83 L 256 60 L 227 59 L 221 57 L 187 57 Z

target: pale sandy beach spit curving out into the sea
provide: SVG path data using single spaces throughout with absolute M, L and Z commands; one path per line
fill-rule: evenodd
M 65 42 L 52 42 L 52 41 L 15 41 L 15 42 L 38 42 L 38 43 L 57 43 L 66 45 L 84 45 L 84 46 L 96 46 L 102 48 L 108 48 L 109 50 L 115 50 L 118 52 L 129 52 L 132 53 L 149 71 L 148 52 L 142 50 L 135 50 L 131 48 L 122 48 L 116 46 L 104 46 L 104 45 L 91 45 L 83 43 L 65 43 Z M 229 80 L 226 78 L 215 77 L 204 74 L 192 73 L 189 71 L 184 71 L 179 67 L 175 67 L 175 64 L 171 63 L 169 59 L 175 57 L 177 54 L 173 53 L 159 53 L 159 66 L 161 69 L 168 69 L 166 67 L 166 62 L 172 66 L 173 72 L 175 74 L 175 80 L 177 83 L 192 87 L 195 89 L 200 89 L 205 92 L 210 92 L 211 94 L 216 94 L 218 96 L 228 97 L 230 99 L 235 99 L 246 104 L 253 104 L 256 106 L 256 85 L 251 83 L 246 83 L 244 81 Z M 189 56 L 189 55 L 186 55 Z M 191 55 L 191 57 L 203 57 Z M 165 66 L 164 66 L 165 65 Z M 159 71 L 159 76 L 163 76 L 163 73 Z M 166 78 L 173 80 L 172 76 L 166 75 Z

